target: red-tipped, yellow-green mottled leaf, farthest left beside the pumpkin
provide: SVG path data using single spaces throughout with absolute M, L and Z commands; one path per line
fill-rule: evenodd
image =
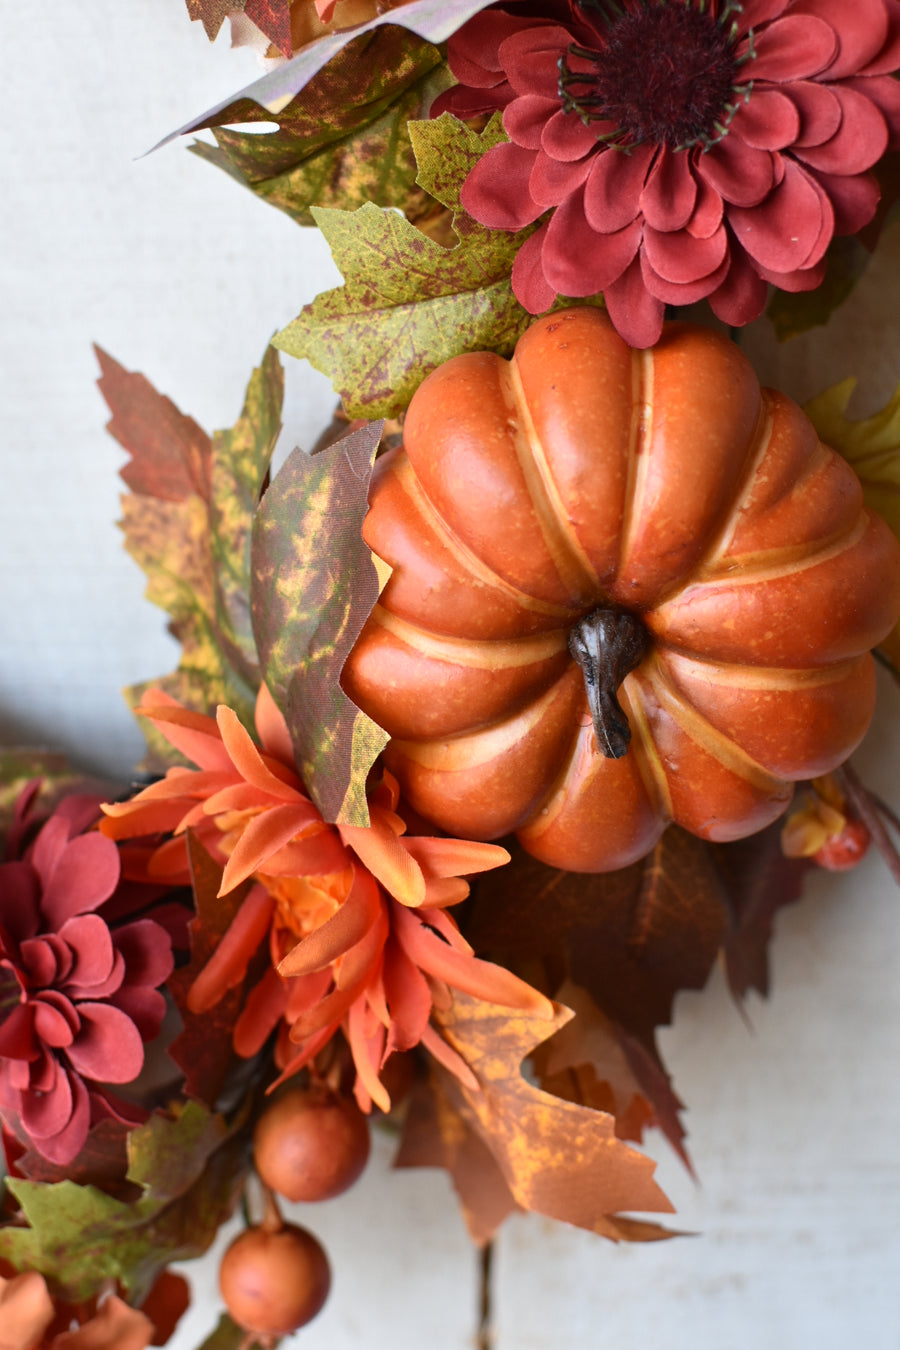
M 209 437 L 139 374 L 97 352 L 111 435 L 128 451 L 121 477 L 125 548 L 147 598 L 181 643 L 175 671 L 152 683 L 198 711 L 228 703 L 252 725 L 259 670 L 250 624 L 250 524 L 281 428 L 283 374 L 267 350 L 240 418 Z M 146 684 L 127 691 L 139 702 Z M 171 748 L 147 730 L 148 767 Z

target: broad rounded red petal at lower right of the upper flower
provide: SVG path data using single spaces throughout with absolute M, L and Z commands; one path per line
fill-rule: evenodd
M 727 219 L 750 256 L 777 273 L 816 263 L 834 232 L 834 212 L 824 189 L 791 161 L 785 162 L 784 181 L 764 207 L 730 207 Z

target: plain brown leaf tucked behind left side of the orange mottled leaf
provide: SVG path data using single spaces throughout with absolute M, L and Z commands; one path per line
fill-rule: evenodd
M 491 1241 L 519 1206 L 480 1133 L 455 1110 L 444 1075 L 432 1072 L 412 1088 L 395 1168 L 443 1168 L 459 1196 L 468 1234 L 478 1246 Z

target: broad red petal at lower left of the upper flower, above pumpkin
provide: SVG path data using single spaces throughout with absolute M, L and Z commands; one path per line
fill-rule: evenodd
M 584 192 L 559 207 L 544 240 L 544 275 L 561 296 L 595 296 L 606 290 L 634 258 L 641 244 L 641 221 L 611 235 L 598 235 L 584 219 Z

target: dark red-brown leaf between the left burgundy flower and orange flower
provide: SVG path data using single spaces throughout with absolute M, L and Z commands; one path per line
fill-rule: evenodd
M 177 969 L 169 979 L 167 987 L 184 1023 L 181 1033 L 169 1046 L 169 1054 L 185 1073 L 186 1095 L 213 1106 L 233 1065 L 232 1034 L 244 1006 L 246 981 L 229 990 L 202 1015 L 190 1011 L 188 994 L 219 946 L 251 883 L 247 882 L 220 898 L 221 867 L 190 834 L 188 848 L 197 917 L 189 926 L 190 963 Z

